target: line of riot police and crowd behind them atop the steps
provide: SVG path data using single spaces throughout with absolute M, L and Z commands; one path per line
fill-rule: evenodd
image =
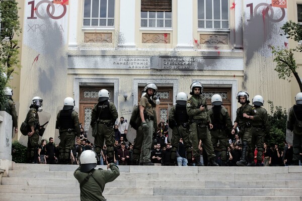
M 39 145 L 38 112 L 42 111 L 43 99 L 35 96 L 26 116 L 28 136 L 27 159 L 29 163 L 80 164 L 81 153 L 93 150 L 98 164 L 116 165 L 196 165 L 196 166 L 277 166 L 299 165 L 302 148 L 302 92 L 295 96 L 296 104 L 288 114 L 287 128 L 293 131 L 293 143 L 285 142 L 284 150 L 278 145 L 271 148 L 264 142 L 269 134 L 267 111 L 262 107 L 264 99 L 256 95 L 250 105 L 247 91 L 239 91 L 236 98 L 241 107 L 237 109 L 232 123 L 228 110 L 222 106 L 219 94 L 211 97 L 212 107 L 208 109 L 202 95 L 203 86 L 193 82 L 190 95 L 179 92 L 176 105 L 170 109 L 167 120 L 158 124 L 155 108 L 160 104 L 157 85 L 147 83 L 138 106 L 132 111 L 130 126 L 136 130 L 131 144 L 128 139 L 128 123 L 124 117 L 116 124 L 118 112 L 109 102 L 107 89 L 99 91 L 98 103 L 91 116 L 94 144 L 79 123 L 74 111 L 74 99 L 66 97 L 64 106 L 57 114 L 56 129 L 60 143 L 53 144 L 49 138 Z M 18 132 L 16 109 L 12 101 L 12 90 L 6 88 L 7 102 L 2 106 L 12 114 L 13 128 Z M 172 129 L 171 142 L 168 140 Z M 230 135 L 232 134 L 232 135 Z M 74 143 L 75 142 L 75 143 Z

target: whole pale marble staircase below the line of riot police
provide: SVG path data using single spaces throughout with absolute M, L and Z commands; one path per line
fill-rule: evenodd
M 104 168 L 106 166 L 98 166 Z M 2 178 L 0 200 L 80 201 L 78 165 L 13 164 Z M 302 166 L 119 166 L 107 183 L 107 201 L 302 200 Z

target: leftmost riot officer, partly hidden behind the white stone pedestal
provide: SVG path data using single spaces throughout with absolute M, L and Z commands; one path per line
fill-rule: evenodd
M 12 116 L 13 120 L 13 129 L 15 127 L 15 133 L 18 133 L 18 117 L 16 112 L 16 106 L 14 103 L 14 100 L 12 98 L 13 96 L 13 90 L 10 87 L 6 87 L 4 89 L 5 94 L 5 102 L 4 105 L 1 107 L 2 111 L 6 111 Z

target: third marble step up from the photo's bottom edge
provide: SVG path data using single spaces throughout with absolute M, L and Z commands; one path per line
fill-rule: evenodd
M 31 185 L 31 186 L 80 186 L 76 179 L 61 178 L 21 178 L 21 177 L 3 177 L 3 185 Z M 106 184 L 106 187 L 127 186 L 127 187 L 166 187 L 175 188 L 193 187 L 193 188 L 295 188 L 302 186 L 301 180 L 292 181 L 176 181 L 176 180 L 128 180 L 118 177 L 116 180 Z

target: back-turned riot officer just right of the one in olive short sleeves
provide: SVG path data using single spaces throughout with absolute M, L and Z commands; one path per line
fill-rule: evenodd
M 186 148 L 186 157 L 188 164 L 192 164 L 192 143 L 189 134 L 189 116 L 187 114 L 186 103 L 188 96 L 185 92 L 179 92 L 176 95 L 176 105 L 170 109 L 169 127 L 173 129 L 171 139 L 171 163 L 174 164 L 176 152 L 179 147 L 179 140 L 182 138 Z

